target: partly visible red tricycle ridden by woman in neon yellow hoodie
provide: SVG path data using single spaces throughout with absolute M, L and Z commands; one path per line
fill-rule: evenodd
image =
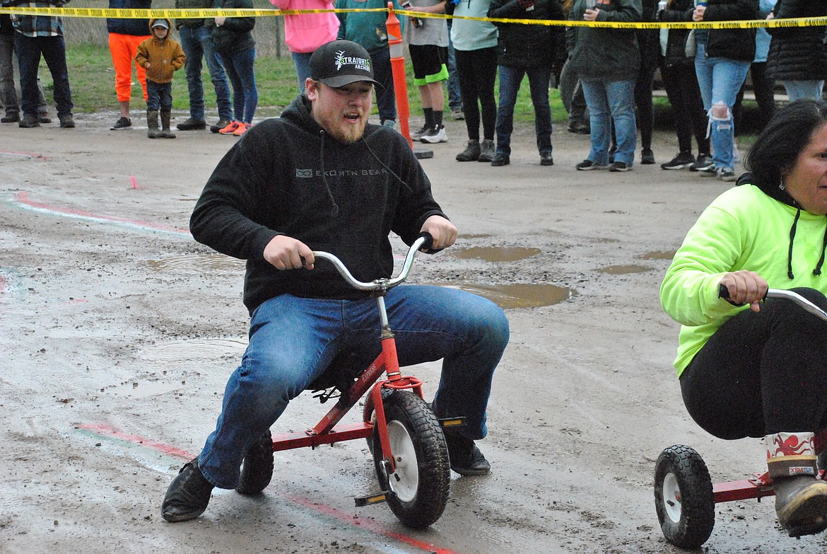
M 729 296 L 725 287 L 720 296 Z M 771 288 L 766 297 L 786 298 L 827 321 L 827 312 L 794 291 Z M 827 431 L 821 431 L 815 436 L 819 479 L 823 479 L 825 473 L 825 446 Z M 690 446 L 670 446 L 657 457 L 655 509 L 663 536 L 676 547 L 696 548 L 706 542 L 715 527 L 716 503 L 746 499 L 760 501 L 774 494 L 767 471 L 753 474 L 749 479 L 713 484 L 704 460 Z

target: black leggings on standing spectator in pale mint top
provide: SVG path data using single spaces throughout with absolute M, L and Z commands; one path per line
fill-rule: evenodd
M 480 50 L 455 50 L 457 75 L 460 76 L 462 112 L 466 116 L 468 138 L 480 140 L 480 108 L 482 108 L 482 137 L 494 140 L 494 126 L 497 121 L 497 102 L 494 98 L 494 83 L 497 79 L 497 48 Z

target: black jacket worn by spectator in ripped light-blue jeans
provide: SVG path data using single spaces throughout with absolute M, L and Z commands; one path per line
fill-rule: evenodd
M 705 22 L 749 21 L 761 19 L 758 0 L 708 0 L 704 12 Z M 694 6 L 676 19 L 661 17 L 662 21 L 692 21 Z M 672 12 L 662 12 L 671 14 Z M 671 15 L 668 17 L 672 17 Z M 706 43 L 706 55 L 730 60 L 753 61 L 755 59 L 755 29 L 710 29 Z

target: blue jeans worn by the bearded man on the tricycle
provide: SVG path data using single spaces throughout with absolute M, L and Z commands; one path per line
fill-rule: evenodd
M 417 285 L 391 289 L 385 306 L 399 365 L 443 359 L 435 409 L 444 416 L 465 416 L 462 434 L 484 437 L 491 378 L 509 339 L 503 311 L 468 292 Z M 356 353 L 358 367 L 367 367 L 380 354 L 375 299 L 284 294 L 256 308 L 250 344 L 227 382 L 216 429 L 198 457 L 210 483 L 221 489 L 237 486 L 246 451 L 339 350 Z

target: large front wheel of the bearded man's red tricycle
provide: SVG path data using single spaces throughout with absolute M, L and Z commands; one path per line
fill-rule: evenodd
M 390 483 L 379 432 L 373 434 L 373 459 L 382 489 L 390 491 L 388 504 L 409 528 L 427 528 L 442 515 L 448 502 L 451 465 L 445 436 L 428 404 L 414 393 L 392 391 L 383 403 L 395 471 Z

